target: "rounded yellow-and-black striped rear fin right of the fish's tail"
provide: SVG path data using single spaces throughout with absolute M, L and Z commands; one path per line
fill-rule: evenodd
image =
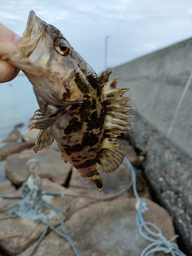
M 103 148 L 97 159 L 97 167 L 105 173 L 114 172 L 122 163 L 125 150 L 113 140 L 104 139 Z

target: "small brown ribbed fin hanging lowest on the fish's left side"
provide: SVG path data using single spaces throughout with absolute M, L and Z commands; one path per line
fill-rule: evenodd
M 37 136 L 35 146 L 33 151 L 36 154 L 37 152 L 44 150 L 44 148 L 50 146 L 54 141 L 53 134 L 51 132 L 51 127 L 48 127 L 46 130 L 40 130 Z

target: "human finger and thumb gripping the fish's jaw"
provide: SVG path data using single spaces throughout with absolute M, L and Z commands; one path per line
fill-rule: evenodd
M 0 56 L 13 52 L 20 39 L 21 36 L 0 23 Z M 19 71 L 6 60 L 0 59 L 0 83 L 13 80 Z

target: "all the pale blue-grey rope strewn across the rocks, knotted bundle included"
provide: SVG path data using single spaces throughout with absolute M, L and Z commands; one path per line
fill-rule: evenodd
M 36 163 L 35 167 L 30 168 L 31 163 Z M 186 256 L 182 251 L 179 250 L 177 244 L 175 244 L 173 241 L 178 237 L 178 235 L 174 236 L 172 239 L 168 240 L 163 236 L 162 231 L 153 223 L 150 222 L 144 222 L 143 220 L 143 213 L 148 210 L 147 203 L 144 200 L 141 200 L 139 198 L 137 188 L 136 188 L 136 172 L 131 164 L 131 162 L 125 157 L 123 160 L 123 164 L 127 166 L 127 170 L 131 170 L 132 178 L 130 184 L 117 193 L 114 196 L 110 197 L 91 197 L 87 195 L 80 195 L 80 194 L 69 194 L 69 193 L 59 193 L 59 192 L 48 192 L 48 191 L 42 191 L 42 181 L 41 178 L 37 175 L 35 175 L 36 170 L 39 168 L 39 162 L 36 159 L 31 159 L 26 163 L 27 168 L 30 172 L 32 172 L 32 175 L 29 176 L 27 181 L 23 184 L 23 196 L 19 197 L 11 197 L 11 196 L 2 196 L 2 198 L 5 199 L 22 199 L 20 200 L 19 204 L 12 204 L 9 205 L 3 209 L 0 209 L 0 212 L 3 211 L 10 211 L 10 216 L 1 217 L 2 219 L 8 219 L 8 218 L 16 218 L 20 217 L 23 219 L 32 220 L 34 222 L 40 221 L 45 224 L 45 229 L 42 232 L 41 236 L 39 237 L 38 241 L 36 242 L 36 245 L 34 246 L 33 250 L 28 254 L 28 256 L 32 256 L 32 254 L 35 252 L 37 247 L 39 246 L 40 242 L 44 239 L 46 236 L 46 233 L 48 231 L 48 228 L 50 228 L 52 231 L 58 234 L 58 236 L 65 238 L 71 245 L 72 249 L 74 250 L 74 253 L 76 256 L 82 256 L 81 252 L 79 251 L 78 247 L 75 245 L 75 242 L 73 239 L 69 236 L 67 231 L 65 230 L 64 221 L 62 214 L 66 215 L 67 218 L 69 218 L 69 215 L 66 211 L 59 209 L 55 206 L 50 205 L 46 202 L 45 196 L 71 196 L 71 197 L 84 197 L 88 199 L 92 199 L 95 201 L 106 201 L 106 200 L 112 200 L 123 193 L 125 193 L 127 190 L 129 190 L 133 186 L 134 195 L 137 199 L 136 203 L 136 210 L 138 211 L 138 220 L 136 226 L 138 227 L 139 233 L 143 238 L 145 238 L 148 241 L 151 241 L 152 243 L 148 245 L 141 253 L 140 256 L 153 256 L 155 252 L 157 251 L 163 251 L 164 253 L 171 253 L 172 256 Z M 1 199 L 1 198 L 0 198 Z M 47 207 L 51 210 L 49 215 L 45 215 L 42 213 L 42 208 Z M 61 230 L 57 230 L 55 227 L 53 227 L 49 223 L 49 219 L 53 218 L 54 215 L 58 215 L 60 218 L 60 225 Z M 156 232 L 153 232 L 150 228 L 153 227 L 156 229 Z M 145 233 L 143 232 L 143 229 L 145 230 Z M 148 233 L 148 235 L 146 234 Z M 157 239 L 152 238 L 156 237 Z M 153 247 L 153 248 L 152 248 Z

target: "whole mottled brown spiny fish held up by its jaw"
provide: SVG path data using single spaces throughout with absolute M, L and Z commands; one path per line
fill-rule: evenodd
M 125 157 L 115 142 L 130 124 L 133 109 L 123 97 L 131 89 L 117 89 L 122 78 L 109 81 L 113 72 L 97 76 L 65 36 L 30 11 L 17 49 L 1 56 L 21 69 L 32 83 L 39 109 L 29 121 L 39 129 L 34 153 L 56 140 L 63 161 L 70 162 L 98 189 L 99 170 L 114 172 Z

